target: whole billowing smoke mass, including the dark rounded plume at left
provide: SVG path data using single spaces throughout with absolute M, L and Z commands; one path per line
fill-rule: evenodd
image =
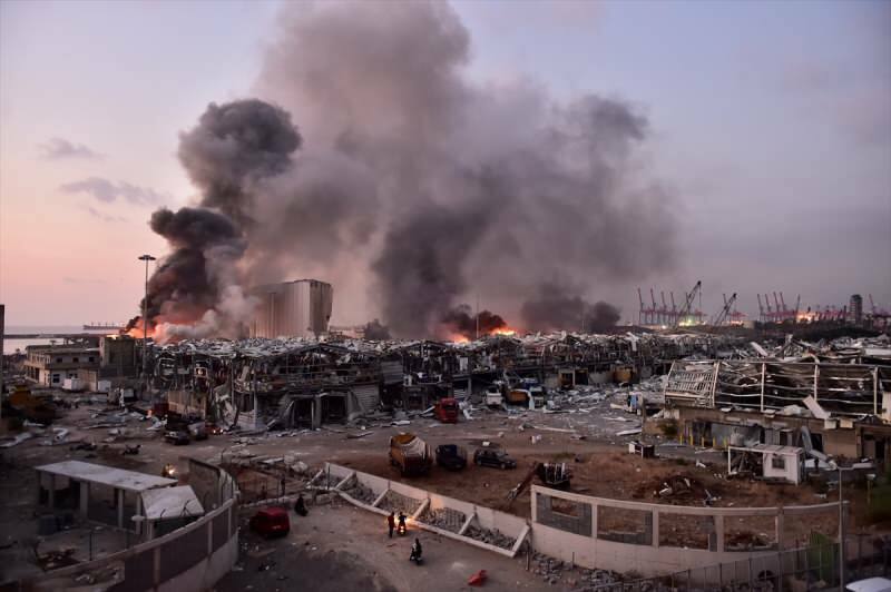
M 282 17 L 263 100 L 210 105 L 182 135 L 198 205 L 246 240 L 224 258 L 237 273 L 221 283 L 205 263 L 204 279 L 153 294 L 153 309 L 225 316 L 225 287 L 317 277 L 339 310 L 376 308 L 399 337 L 437 335 L 473 296 L 508 318 L 531 310 L 521 328 L 533 328 L 576 308 L 611 318 L 585 302 L 596 286 L 672 265 L 669 199 L 646 174 L 649 125 L 629 103 L 470 80 L 470 36 L 442 2 L 292 3 Z M 165 266 L 194 269 L 205 250 Z M 521 306 L 552 277 L 577 284 L 558 310 Z

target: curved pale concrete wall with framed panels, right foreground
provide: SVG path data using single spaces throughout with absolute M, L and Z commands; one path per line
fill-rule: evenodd
M 555 500 L 559 501 L 559 512 L 551 507 Z M 806 520 L 807 514 L 823 513 L 834 507 L 838 507 L 834 503 L 790 507 L 687 507 L 589 497 L 533 485 L 531 541 L 538 551 L 586 568 L 619 572 L 634 570 L 643 576 L 652 576 L 776 554 L 775 550 L 726 551 L 725 517 L 772 516 L 776 529 L 774 540 L 782 547 L 784 520 Z M 637 540 L 636 543 L 617 542 L 617 533 L 607 534 L 598 527 L 598 516 L 621 511 L 640 512 L 645 516 L 645 535 L 635 532 L 626 535 L 626 541 Z M 659 516 L 668 514 L 711 517 L 715 530 L 712 549 L 660 546 Z M 606 535 L 614 540 L 606 540 Z

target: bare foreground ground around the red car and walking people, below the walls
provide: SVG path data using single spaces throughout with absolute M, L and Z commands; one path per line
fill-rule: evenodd
M 467 581 L 479 570 L 487 571 L 489 590 L 571 589 L 571 572 L 564 578 L 567 588 L 550 585 L 527 572 L 522 558 L 482 552 L 425 531 L 389 539 L 383 517 L 345 502 L 310 507 L 306 517 L 291 513 L 291 525 L 287 536 L 274 540 L 243 529 L 239 564 L 216 589 L 446 592 L 473 590 Z M 424 550 L 420 566 L 409 561 L 415 536 Z

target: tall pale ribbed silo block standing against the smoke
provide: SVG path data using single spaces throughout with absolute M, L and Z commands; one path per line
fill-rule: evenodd
M 317 279 L 258 286 L 261 303 L 251 323 L 252 337 L 312 337 L 327 333 L 334 289 Z

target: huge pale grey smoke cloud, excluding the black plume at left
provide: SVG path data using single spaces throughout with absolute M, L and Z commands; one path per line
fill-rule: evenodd
M 670 266 L 670 206 L 630 105 L 471 81 L 470 36 L 440 2 L 301 4 L 283 21 L 257 90 L 295 114 L 306 150 L 368 175 L 375 199 L 353 195 L 334 228 L 373 219 L 344 282 L 374 287 L 395 335 L 434 335 L 474 295 L 517 313 L 542 277 L 579 278 L 584 297 Z

